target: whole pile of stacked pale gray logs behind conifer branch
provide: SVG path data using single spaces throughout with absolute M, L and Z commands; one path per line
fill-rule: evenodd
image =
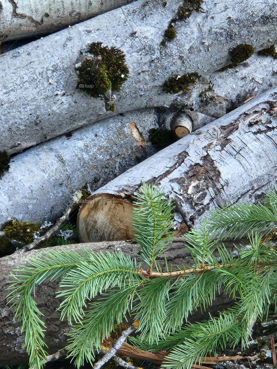
M 62 9 L 48 12 L 45 0 L 34 14 L 24 2 L 0 2 L 0 42 L 88 19 L 0 56 L 0 151 L 11 155 L 0 176 L 0 227 L 10 218 L 55 221 L 72 193 L 87 186 L 92 194 L 77 220 L 83 244 L 56 248 L 120 248 L 135 256 L 131 214 L 143 182 L 160 186 L 174 203 L 178 236 L 199 227 L 212 208 L 263 198 L 277 177 L 277 54 L 258 52 L 277 43 L 276 4 L 234 0 L 231 8 L 227 0 L 203 1 L 202 11 L 176 22 L 176 37 L 163 42 L 180 0 L 90 3 L 71 9 L 64 1 Z M 90 97 L 76 89 L 76 68 L 91 60 L 93 42 L 126 55 L 129 77 L 119 91 L 109 90 L 115 111 L 107 110 L 105 94 Z M 232 62 L 230 51 L 243 45 L 253 55 L 219 71 Z M 164 86 L 172 76 L 195 80 L 168 93 Z M 160 150 L 153 130 L 174 138 Z M 188 255 L 183 247 L 171 245 L 171 264 L 182 264 Z M 0 366 L 28 361 L 4 290 L 15 266 L 41 252 L 0 260 Z M 69 331 L 55 312 L 57 288 L 43 283 L 36 294 L 49 354 L 65 346 Z M 216 303 L 229 301 L 223 296 Z

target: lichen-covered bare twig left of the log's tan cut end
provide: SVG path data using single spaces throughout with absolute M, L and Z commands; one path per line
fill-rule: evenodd
M 57 220 L 57 222 L 55 223 L 55 225 L 49 229 L 43 236 L 41 237 L 37 237 L 33 242 L 31 242 L 31 244 L 23 247 L 21 250 L 19 250 L 18 252 L 25 252 L 25 251 L 31 251 L 34 248 L 37 248 L 42 242 L 47 241 L 60 227 L 61 225 L 69 219 L 69 214 L 72 210 L 72 207 L 74 204 L 78 203 L 79 200 L 82 197 L 82 191 L 78 190 L 76 191 L 70 200 L 70 203 L 68 205 L 68 207 L 65 209 L 64 214 L 61 216 L 61 218 L 59 218 Z

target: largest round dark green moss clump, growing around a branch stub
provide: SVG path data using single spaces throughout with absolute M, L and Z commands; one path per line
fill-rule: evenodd
M 88 52 L 94 57 L 88 56 L 76 68 L 79 74 L 77 88 L 93 97 L 105 97 L 109 90 L 119 92 L 129 76 L 122 50 L 114 46 L 102 46 L 102 42 L 93 42 Z

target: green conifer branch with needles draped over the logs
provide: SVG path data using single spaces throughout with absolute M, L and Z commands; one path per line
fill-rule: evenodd
M 34 298 L 35 287 L 45 280 L 61 279 L 59 310 L 72 325 L 67 350 L 78 368 L 85 362 L 93 365 L 103 340 L 114 334 L 114 324 L 124 320 L 140 320 L 138 335 L 131 339 L 135 345 L 168 351 L 164 367 L 190 369 L 218 348 L 245 346 L 255 321 L 272 306 L 276 313 L 277 187 L 263 203 L 217 208 L 202 227 L 191 230 L 186 235 L 191 269 L 169 267 L 167 259 L 163 269 L 157 264 L 173 237 L 173 209 L 164 198 L 146 184 L 136 196 L 133 227 L 142 264 L 121 250 L 95 254 L 81 248 L 81 253 L 45 251 L 14 271 L 8 301 L 25 331 L 30 365 L 40 369 L 47 355 L 46 327 Z M 249 245 L 235 257 L 222 242 L 243 235 Z M 148 270 L 142 269 L 145 264 Z M 188 323 L 195 310 L 205 310 L 222 291 L 234 300 L 232 307 Z

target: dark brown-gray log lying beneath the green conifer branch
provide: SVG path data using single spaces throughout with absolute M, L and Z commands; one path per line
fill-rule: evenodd
M 136 256 L 138 252 L 138 245 L 124 241 L 55 246 L 55 249 L 77 251 L 80 246 L 85 246 L 95 252 L 105 252 L 106 250 L 112 252 L 122 249 L 124 254 L 130 255 L 131 257 Z M 184 247 L 185 245 L 182 242 L 170 245 L 169 251 L 165 253 L 168 265 L 182 265 L 184 264 L 184 258 L 186 258 L 186 265 L 187 262 L 193 262 L 192 259 L 188 257 L 190 254 Z M 232 245 L 230 245 L 230 249 L 232 249 Z M 39 256 L 44 250 L 45 249 L 40 249 L 24 254 L 13 254 L 0 259 L 0 289 L 3 292 L 0 296 L 0 366 L 28 363 L 28 357 L 23 348 L 24 334 L 20 333 L 20 325 L 14 319 L 13 312 L 6 306 L 6 293 L 4 291 L 7 286 L 7 281 L 10 280 L 8 275 L 11 271 L 14 268 L 18 268 L 19 265 L 26 265 L 28 263 L 28 258 Z M 164 259 L 162 259 L 162 256 L 158 259 L 163 268 Z M 140 260 L 138 259 L 138 261 Z M 59 320 L 59 312 L 56 311 L 61 303 L 61 299 L 54 298 L 57 290 L 57 282 L 44 282 L 36 289 L 35 293 L 35 300 L 38 303 L 39 309 L 44 313 L 43 319 L 47 325 L 45 341 L 48 345 L 48 354 L 57 352 L 66 345 L 67 333 L 69 331 L 68 325 L 65 321 L 61 322 Z M 215 308 L 209 308 L 209 311 L 211 314 L 213 311 L 217 312 L 218 309 L 226 307 L 228 303 L 230 303 L 230 299 L 228 296 L 222 294 L 216 300 Z

